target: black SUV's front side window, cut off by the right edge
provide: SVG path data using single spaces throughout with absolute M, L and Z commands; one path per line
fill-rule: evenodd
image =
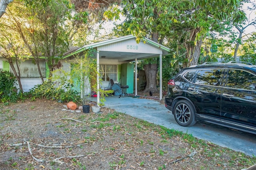
M 243 70 L 228 70 L 227 85 L 236 89 L 256 90 L 256 76 Z

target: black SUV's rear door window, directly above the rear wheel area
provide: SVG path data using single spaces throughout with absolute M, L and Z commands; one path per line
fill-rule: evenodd
M 196 74 L 196 84 L 201 85 L 221 85 L 222 69 L 199 70 Z

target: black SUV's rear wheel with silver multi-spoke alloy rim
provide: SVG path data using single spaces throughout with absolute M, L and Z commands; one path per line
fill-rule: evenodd
M 173 109 L 176 122 L 184 127 L 192 126 L 196 123 L 195 109 L 191 103 L 186 100 L 178 101 Z

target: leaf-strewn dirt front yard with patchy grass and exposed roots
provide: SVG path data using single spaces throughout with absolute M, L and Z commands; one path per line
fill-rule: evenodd
M 240 170 L 255 158 L 102 108 L 46 99 L 0 105 L 1 170 Z M 78 111 L 78 110 L 77 110 Z

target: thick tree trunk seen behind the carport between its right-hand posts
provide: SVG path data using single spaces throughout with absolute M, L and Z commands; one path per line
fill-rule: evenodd
M 156 88 L 156 74 L 157 74 L 157 64 L 146 64 L 143 66 L 146 74 L 146 87 L 143 93 L 151 91 L 152 93 L 158 92 Z

